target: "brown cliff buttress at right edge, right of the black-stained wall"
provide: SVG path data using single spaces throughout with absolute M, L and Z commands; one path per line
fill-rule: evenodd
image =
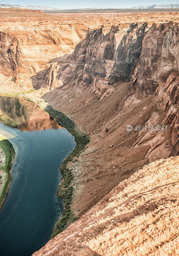
M 173 145 L 179 143 L 179 26 L 178 23 L 153 24 L 142 42 L 140 60 L 134 70 L 131 85 L 136 93 L 154 93 L 160 108 L 166 111 L 162 124 L 171 127 Z M 171 156 L 177 155 L 174 146 Z

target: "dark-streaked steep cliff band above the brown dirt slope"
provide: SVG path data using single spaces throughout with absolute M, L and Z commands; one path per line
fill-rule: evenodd
M 59 81 L 55 78 L 55 84 L 81 82 L 83 86 L 93 86 L 100 99 L 112 93 L 116 82 L 130 81 L 132 76 L 131 85 L 136 93 L 155 92 L 159 84 L 178 70 L 177 26 L 170 22 L 150 27 L 145 22 L 132 23 L 127 31 L 120 25 L 88 30 L 70 56 L 71 65 L 57 66 Z M 50 89 L 48 83 L 45 87 Z

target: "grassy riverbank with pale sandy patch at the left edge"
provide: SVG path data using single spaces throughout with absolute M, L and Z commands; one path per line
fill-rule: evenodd
M 5 199 L 12 181 L 11 168 L 15 159 L 15 149 L 6 137 L 0 134 L 1 163 L 0 163 L 0 211 L 3 207 Z M 3 162 L 3 158 L 5 161 Z

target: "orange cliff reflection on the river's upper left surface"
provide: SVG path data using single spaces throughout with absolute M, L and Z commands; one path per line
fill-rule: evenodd
M 37 107 L 37 103 L 4 96 L 0 96 L 0 121 L 21 131 L 59 128 L 46 111 Z

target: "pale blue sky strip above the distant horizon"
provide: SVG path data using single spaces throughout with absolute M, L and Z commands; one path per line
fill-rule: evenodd
M 169 3 L 169 1 L 165 0 L 156 0 L 156 1 L 142 1 L 142 0 L 15 0 L 15 1 L 2 1 L 1 4 L 20 4 L 20 5 L 39 5 L 39 6 L 48 6 L 60 9 L 76 9 L 76 8 L 131 8 L 133 6 L 144 6 L 144 5 L 153 5 L 153 4 L 178 4 L 179 1 L 173 1 Z

